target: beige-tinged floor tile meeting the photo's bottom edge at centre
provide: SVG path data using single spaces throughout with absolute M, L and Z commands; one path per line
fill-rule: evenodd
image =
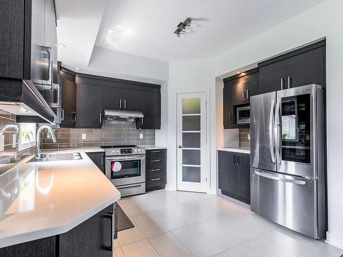
M 193 256 L 193 254 L 191 254 L 191 252 L 189 252 L 171 232 L 154 236 L 150 238 L 149 241 L 160 256 Z

